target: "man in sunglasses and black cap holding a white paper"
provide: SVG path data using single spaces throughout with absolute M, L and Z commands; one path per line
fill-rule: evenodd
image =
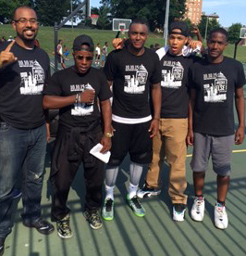
M 111 91 L 104 73 L 92 68 L 93 51 L 92 38 L 78 36 L 73 43 L 75 65 L 55 72 L 44 90 L 44 109 L 60 109 L 51 182 L 55 192 L 52 218 L 56 221 L 58 236 L 62 238 L 72 237 L 67 200 L 81 162 L 86 186 L 84 216 L 93 229 L 102 227 L 99 210 L 102 204 L 104 164 L 94 158 L 90 150 L 98 143 L 103 146 L 101 153 L 111 148 Z

